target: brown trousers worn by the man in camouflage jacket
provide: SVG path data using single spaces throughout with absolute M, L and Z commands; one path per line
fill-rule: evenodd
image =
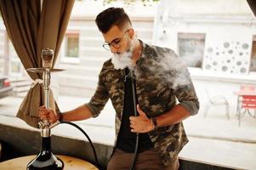
M 132 159 L 133 153 L 127 153 L 122 150 L 116 149 L 111 156 L 108 163 L 107 170 L 128 170 Z M 178 170 L 179 160 L 178 157 L 171 165 L 164 166 L 162 161 L 156 155 L 155 150 L 145 150 L 137 155 L 135 162 L 135 170 Z

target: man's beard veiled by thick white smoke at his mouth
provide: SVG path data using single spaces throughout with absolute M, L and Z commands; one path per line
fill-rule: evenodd
M 113 63 L 115 69 L 124 69 L 126 67 L 128 68 L 132 68 L 133 67 L 133 59 L 132 59 L 132 56 L 133 56 L 133 51 L 134 51 L 134 47 L 135 47 L 135 39 L 133 39 L 131 42 L 130 42 L 130 47 L 128 48 L 127 51 L 123 52 L 122 54 L 118 54 L 118 53 L 115 53 L 115 54 L 112 54 L 112 57 L 111 57 L 111 62 Z

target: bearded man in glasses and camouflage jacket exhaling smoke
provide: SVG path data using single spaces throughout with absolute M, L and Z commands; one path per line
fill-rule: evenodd
M 139 133 L 136 170 L 178 169 L 179 151 L 188 142 L 182 121 L 199 109 L 185 65 L 173 50 L 137 39 L 123 8 L 105 9 L 96 24 L 105 39 L 103 47 L 113 56 L 104 63 L 89 103 L 62 113 L 61 119 L 96 117 L 111 99 L 117 114 L 117 139 L 107 168 L 130 168 Z M 134 116 L 134 105 L 138 116 Z M 60 119 L 51 109 L 40 107 L 39 113 L 49 122 Z

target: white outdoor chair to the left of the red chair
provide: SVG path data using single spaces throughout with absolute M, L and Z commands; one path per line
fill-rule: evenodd
M 230 107 L 229 107 L 229 102 L 227 99 L 225 99 L 224 96 L 218 95 L 218 96 L 213 96 L 211 97 L 208 94 L 208 90 L 205 89 L 206 94 L 208 96 L 208 104 L 205 106 L 204 111 L 203 111 L 203 116 L 206 117 L 208 114 L 208 111 L 212 105 L 225 105 L 225 116 L 227 116 L 228 119 L 230 119 Z

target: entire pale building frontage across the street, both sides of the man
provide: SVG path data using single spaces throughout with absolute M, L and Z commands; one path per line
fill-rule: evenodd
M 103 8 L 100 1 L 76 1 L 55 65 L 65 69 L 53 75 L 55 94 L 94 94 L 100 68 L 111 57 L 94 23 Z M 256 84 L 256 20 L 246 1 L 162 0 L 147 8 L 134 5 L 128 14 L 140 39 L 172 48 L 185 60 L 202 105 L 222 95 L 235 109 L 234 92 Z M 3 23 L 0 38 L 0 74 L 29 79 Z

